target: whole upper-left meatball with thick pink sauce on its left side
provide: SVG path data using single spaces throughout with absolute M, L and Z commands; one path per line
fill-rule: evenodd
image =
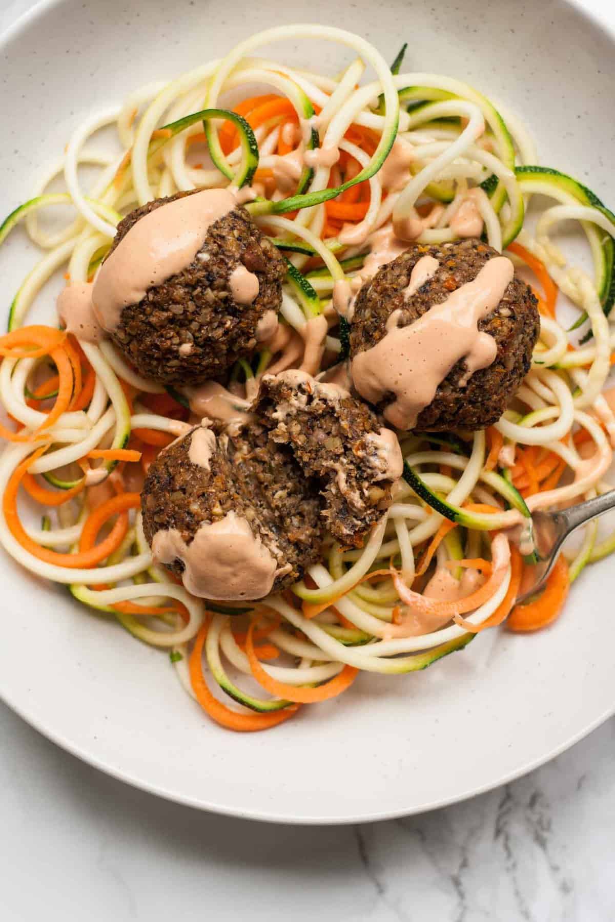
M 278 313 L 285 272 L 230 192 L 178 193 L 118 225 L 94 308 L 137 372 L 199 384 L 254 350 Z

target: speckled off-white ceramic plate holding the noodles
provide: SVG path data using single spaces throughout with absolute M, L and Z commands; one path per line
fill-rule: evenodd
M 88 113 L 150 80 L 218 56 L 253 30 L 302 21 L 300 0 L 64 0 L 6 35 L 0 86 L 0 209 Z M 609 203 L 615 38 L 566 3 L 312 0 L 310 17 L 354 27 L 408 69 L 467 79 L 521 114 L 543 163 Z M 343 14 L 343 15 L 342 15 Z M 279 53 L 279 49 L 277 49 Z M 338 69 L 334 46 L 294 63 Z M 0 254 L 4 311 L 33 253 Z M 51 303 L 39 306 L 51 316 Z M 286 822 L 355 822 L 427 810 L 499 785 L 571 745 L 613 712 L 613 564 L 586 571 L 562 619 L 536 636 L 486 632 L 427 672 L 361 676 L 340 700 L 265 734 L 235 735 L 189 701 L 167 655 L 0 557 L 0 691 L 42 733 L 103 771 L 163 797 Z

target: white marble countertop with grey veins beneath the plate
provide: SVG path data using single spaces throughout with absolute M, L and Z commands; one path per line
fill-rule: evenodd
M 612 0 L 578 0 L 609 13 Z M 32 0 L 0 0 L 4 30 Z M 291 827 L 107 777 L 0 704 L 0 917 L 615 919 L 615 719 L 550 764 L 418 817 Z

